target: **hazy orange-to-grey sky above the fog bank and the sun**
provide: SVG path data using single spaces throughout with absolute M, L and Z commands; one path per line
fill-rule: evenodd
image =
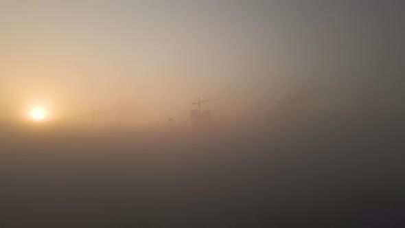
M 400 88 L 401 1 L 0 0 L 1 119 L 259 113 L 297 87 Z M 130 114 L 128 114 L 130 113 Z M 252 114 L 253 115 L 253 114 Z

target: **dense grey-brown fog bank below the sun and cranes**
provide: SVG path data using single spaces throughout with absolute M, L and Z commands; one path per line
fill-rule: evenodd
M 405 227 L 403 114 L 4 130 L 0 227 Z

